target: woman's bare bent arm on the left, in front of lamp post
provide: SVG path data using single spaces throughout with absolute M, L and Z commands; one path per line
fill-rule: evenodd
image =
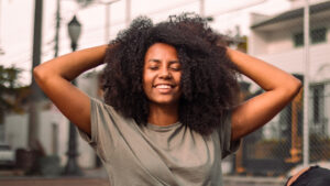
M 81 73 L 103 63 L 108 45 L 77 51 L 45 62 L 33 75 L 54 105 L 80 130 L 90 134 L 90 100 L 76 88 L 74 80 Z

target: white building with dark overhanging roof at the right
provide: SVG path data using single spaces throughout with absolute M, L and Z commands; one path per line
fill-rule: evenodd
M 304 2 L 293 1 L 292 10 L 275 17 L 252 14 L 249 54 L 288 73 L 304 75 Z M 309 125 L 311 134 L 330 136 L 330 1 L 311 2 Z M 276 135 L 271 130 L 276 133 L 272 124 L 264 132 Z

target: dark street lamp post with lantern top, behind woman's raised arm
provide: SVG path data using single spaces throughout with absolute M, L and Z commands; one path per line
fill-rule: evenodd
M 68 34 L 72 40 L 72 48 L 73 52 L 77 48 L 77 42 L 81 33 L 81 24 L 78 22 L 76 15 L 74 15 L 73 20 L 68 23 Z M 75 80 L 73 80 L 75 85 Z M 75 124 L 70 122 L 69 124 L 69 141 L 68 141 L 68 151 L 67 151 L 67 164 L 64 169 L 64 175 L 67 176 L 79 176 L 82 175 L 80 167 L 77 164 L 77 132 L 75 129 Z

